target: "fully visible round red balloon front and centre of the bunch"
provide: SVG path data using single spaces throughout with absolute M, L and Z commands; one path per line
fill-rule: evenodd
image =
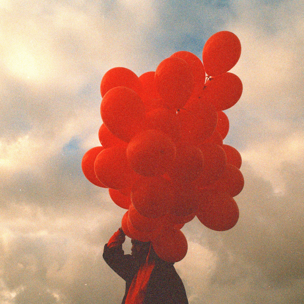
M 129 142 L 126 156 L 135 172 L 153 176 L 166 172 L 175 157 L 175 145 L 161 131 L 146 130 Z

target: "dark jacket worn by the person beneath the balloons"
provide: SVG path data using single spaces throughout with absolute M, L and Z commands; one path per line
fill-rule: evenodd
M 105 244 L 103 251 L 105 262 L 126 281 L 126 292 L 122 304 L 125 303 L 134 275 L 138 272 L 138 264 L 130 254 L 124 254 L 121 246 L 108 248 Z M 155 267 L 150 275 L 144 304 L 188 304 L 185 287 L 177 274 L 173 263 L 168 263 L 157 257 Z

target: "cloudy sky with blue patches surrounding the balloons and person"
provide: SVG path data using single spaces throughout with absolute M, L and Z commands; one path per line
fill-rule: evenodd
M 240 218 L 225 232 L 187 223 L 174 266 L 190 304 L 304 303 L 303 4 L 0 0 L 0 14 L 1 304 L 121 303 L 102 251 L 125 210 L 81 171 L 100 145 L 100 81 L 179 50 L 202 58 L 221 30 L 242 45 L 224 140 L 243 159 Z

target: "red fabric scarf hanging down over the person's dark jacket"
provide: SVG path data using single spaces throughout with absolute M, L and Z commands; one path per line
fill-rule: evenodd
M 154 266 L 155 261 L 148 261 L 148 259 L 140 266 L 129 288 L 125 304 L 143 304 L 147 292 L 147 285 Z

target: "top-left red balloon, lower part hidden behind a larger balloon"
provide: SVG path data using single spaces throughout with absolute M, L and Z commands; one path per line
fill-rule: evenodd
M 126 67 L 113 67 L 102 77 L 100 93 L 103 97 L 106 92 L 115 87 L 126 87 L 141 94 L 141 83 L 137 75 Z

